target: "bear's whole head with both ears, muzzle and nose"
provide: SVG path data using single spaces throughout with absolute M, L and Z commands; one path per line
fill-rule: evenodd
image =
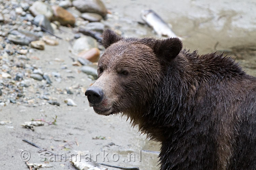
M 161 84 L 166 65 L 179 55 L 179 38 L 123 38 L 111 30 L 103 33 L 106 48 L 98 62 L 98 80 L 85 95 L 100 115 L 140 112 Z

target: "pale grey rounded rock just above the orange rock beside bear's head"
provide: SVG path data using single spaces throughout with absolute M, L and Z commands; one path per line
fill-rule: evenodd
M 97 41 L 90 36 L 83 36 L 75 40 L 72 49 L 75 53 L 80 53 L 94 47 L 98 47 Z

